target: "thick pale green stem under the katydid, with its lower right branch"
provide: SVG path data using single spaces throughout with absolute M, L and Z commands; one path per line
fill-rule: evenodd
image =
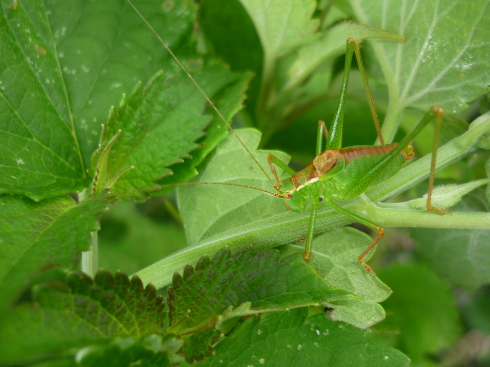
M 382 208 L 368 202 L 365 197 L 352 200 L 345 207 L 354 212 L 363 210 L 370 220 L 384 227 L 458 229 L 490 227 L 490 213 L 470 212 L 442 216 L 425 210 Z M 188 264 L 196 263 L 201 256 L 212 256 L 222 247 L 228 246 L 232 251 L 236 251 L 243 246 L 253 244 L 256 250 L 263 250 L 297 241 L 300 233 L 306 233 L 308 219 L 307 211 L 280 213 L 266 220 L 249 223 L 186 247 L 136 274 L 144 284 L 151 282 L 157 288 L 161 288 L 171 283 L 172 276 L 177 269 L 183 269 Z M 320 231 L 344 226 L 351 222 L 352 219 L 333 211 L 326 205 L 320 205 L 316 219 L 317 234 Z M 315 252 L 315 247 L 313 252 Z

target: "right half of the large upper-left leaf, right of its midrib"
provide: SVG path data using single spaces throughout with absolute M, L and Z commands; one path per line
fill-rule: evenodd
M 154 0 L 138 9 L 175 51 L 192 32 L 196 7 L 175 1 L 172 8 Z M 77 0 L 47 4 L 59 61 L 71 96 L 71 109 L 85 164 L 97 148 L 100 125 L 124 92 L 160 69 L 174 71 L 170 55 L 127 1 Z

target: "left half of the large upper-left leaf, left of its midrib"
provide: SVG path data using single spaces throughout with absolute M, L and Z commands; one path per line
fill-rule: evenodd
M 81 190 L 86 176 L 43 7 L 29 10 L 0 15 L 0 192 L 39 200 Z

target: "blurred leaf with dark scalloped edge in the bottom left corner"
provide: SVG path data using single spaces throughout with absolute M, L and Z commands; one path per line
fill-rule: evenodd
M 143 337 L 165 326 L 165 303 L 155 288 L 122 273 L 101 271 L 94 280 L 74 273 L 66 284 L 39 286 L 35 301 L 14 309 L 0 328 L 3 361 L 55 356 L 114 337 Z

